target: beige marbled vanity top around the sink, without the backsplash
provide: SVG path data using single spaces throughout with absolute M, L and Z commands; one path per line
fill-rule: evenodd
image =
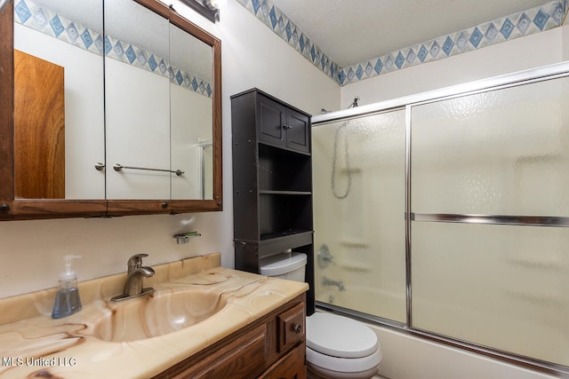
M 101 282 L 104 283 L 104 280 Z M 96 326 L 100 318 L 112 315 L 119 324 L 128 323 L 129 318 L 142 317 L 137 316 L 140 312 L 121 314 L 121 305 L 109 303 L 108 297 L 87 295 L 85 297 L 89 301 L 84 301 L 83 310 L 64 319 L 53 320 L 49 312 L 44 310 L 44 314 L 26 320 L 4 322 L 5 325 L 0 326 L 0 378 L 148 378 L 259 319 L 308 289 L 306 283 L 268 278 L 220 266 L 151 284 L 158 297 L 187 290 L 209 294 L 198 296 L 198 299 L 208 299 L 205 301 L 212 302 L 219 310 L 201 322 L 162 336 L 111 342 L 106 341 L 111 339 L 108 336 L 101 337 L 105 331 Z M 81 286 L 79 289 L 81 291 Z M 105 291 L 98 289 L 95 292 L 100 294 Z M 50 292 L 49 296 L 52 295 Z M 41 303 L 38 300 L 40 297 L 33 296 L 36 303 Z M 212 298 L 217 300 L 212 301 Z M 13 309 L 18 299 L 10 301 Z M 45 299 L 43 301 L 48 303 Z M 145 300 L 142 297 L 125 301 Z M 8 304 L 1 305 L 4 307 Z M 159 324 L 164 322 L 177 322 L 158 320 L 168 318 L 167 314 L 157 315 L 156 312 L 170 309 L 170 304 L 161 308 L 162 311 L 155 310 L 153 314 L 145 316 L 156 319 L 151 320 L 154 322 L 153 328 L 159 328 Z

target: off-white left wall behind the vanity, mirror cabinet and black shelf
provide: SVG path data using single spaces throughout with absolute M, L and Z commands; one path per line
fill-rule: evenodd
M 235 0 L 221 2 L 221 20 L 215 25 L 184 5 L 174 6 L 222 42 L 224 210 L 177 216 L 0 222 L 0 297 L 57 285 L 62 257 L 69 253 L 83 255 L 74 263 L 79 280 L 124 272 L 126 260 L 137 252 L 150 255 L 145 265 L 156 265 L 220 251 L 222 265 L 233 267 L 229 96 L 258 87 L 313 114 L 322 107 L 340 106 L 338 86 Z M 172 235 L 190 230 L 199 231 L 202 237 L 177 245 Z

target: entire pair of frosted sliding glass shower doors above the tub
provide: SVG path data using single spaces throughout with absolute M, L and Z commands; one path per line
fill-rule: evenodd
M 375 109 L 313 128 L 318 303 L 566 376 L 569 67 Z

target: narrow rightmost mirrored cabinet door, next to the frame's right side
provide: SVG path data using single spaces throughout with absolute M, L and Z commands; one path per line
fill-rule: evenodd
M 172 199 L 213 199 L 212 47 L 182 28 L 170 25 Z M 205 180 L 209 180 L 206 183 Z

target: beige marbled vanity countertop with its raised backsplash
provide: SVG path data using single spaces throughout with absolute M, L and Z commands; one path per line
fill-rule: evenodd
M 141 333 L 150 336 L 110 342 L 107 340 L 114 338 L 108 330 L 97 326 L 100 320 L 114 318 L 116 325 L 121 326 L 129 325 L 129 318 L 137 317 L 133 315 L 140 315 L 122 311 L 122 304 L 108 302 L 111 296 L 122 292 L 125 274 L 80 283 L 83 310 L 60 320 L 51 318 L 56 288 L 0 299 L 0 378 L 148 378 L 308 289 L 306 283 L 220 267 L 219 253 L 154 268 L 155 276 L 145 280 L 144 286 L 156 289 L 156 299 L 164 294 L 168 298 L 172 293 L 188 292 L 201 303 L 196 304 L 200 312 L 214 314 L 180 330 L 151 336 L 161 325 L 171 326 L 179 321 L 169 314 L 178 312 L 171 312 L 178 305 L 158 303 L 160 306 L 138 316 L 148 319 L 142 322 L 145 328 Z M 156 302 L 144 297 L 125 300 L 147 302 L 144 304 L 151 301 Z M 207 309 L 210 305 L 215 308 L 213 311 Z M 192 312 L 191 304 L 186 306 Z

